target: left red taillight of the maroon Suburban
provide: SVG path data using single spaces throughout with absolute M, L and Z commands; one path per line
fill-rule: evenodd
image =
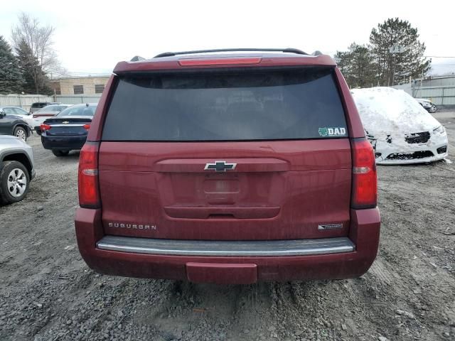
M 79 205 L 85 208 L 99 208 L 101 205 L 98 187 L 98 149 L 97 142 L 85 142 L 79 156 Z

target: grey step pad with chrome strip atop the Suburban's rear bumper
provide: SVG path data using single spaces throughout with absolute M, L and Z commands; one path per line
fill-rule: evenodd
M 347 237 L 323 239 L 213 241 L 105 236 L 102 250 L 173 256 L 307 256 L 355 251 Z

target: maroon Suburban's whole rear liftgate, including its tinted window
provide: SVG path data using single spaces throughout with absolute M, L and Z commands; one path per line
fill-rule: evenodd
M 348 234 L 351 155 L 333 68 L 122 77 L 100 145 L 106 234 Z

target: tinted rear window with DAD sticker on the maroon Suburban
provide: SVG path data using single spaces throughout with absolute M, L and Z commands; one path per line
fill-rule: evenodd
M 333 68 L 119 78 L 104 141 L 252 141 L 347 136 Z

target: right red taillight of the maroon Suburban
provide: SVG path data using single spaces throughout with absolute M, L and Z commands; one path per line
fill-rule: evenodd
M 353 208 L 373 208 L 378 202 L 378 178 L 373 146 L 365 138 L 353 139 Z

